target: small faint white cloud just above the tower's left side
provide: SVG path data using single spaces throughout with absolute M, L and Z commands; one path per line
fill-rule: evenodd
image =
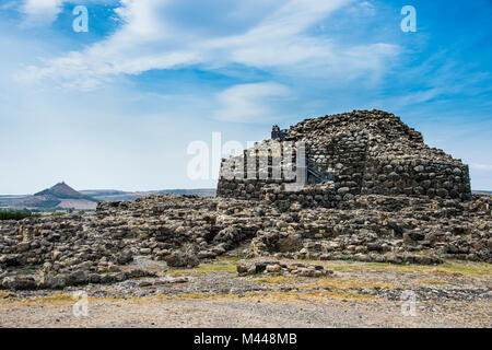
M 278 120 L 272 106 L 290 95 L 289 88 L 273 82 L 235 85 L 218 95 L 220 108 L 214 117 L 239 122 Z

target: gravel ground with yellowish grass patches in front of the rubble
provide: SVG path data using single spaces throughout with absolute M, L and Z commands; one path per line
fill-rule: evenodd
M 492 275 L 487 264 L 402 267 L 318 261 L 333 269 L 328 278 L 237 277 L 233 260 L 192 270 L 166 270 L 162 262 L 143 259 L 133 264 L 162 272 L 157 279 L 58 292 L 1 292 L 0 326 L 492 326 Z M 75 291 L 89 295 L 87 316 L 74 316 Z M 413 315 L 402 312 L 408 293 L 415 299 Z

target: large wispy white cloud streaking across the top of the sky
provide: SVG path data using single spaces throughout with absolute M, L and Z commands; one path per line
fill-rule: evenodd
M 173 26 L 166 20 L 166 9 L 174 1 L 121 0 L 116 13 L 124 24 L 116 33 L 81 51 L 27 67 L 19 78 L 34 82 L 52 79 L 63 86 L 92 89 L 116 74 L 197 63 L 243 63 L 293 75 L 337 73 L 353 78 L 384 69 L 385 58 L 398 52 L 388 44 L 350 47 L 307 34 L 312 25 L 352 0 L 278 0 L 276 10 L 244 34 L 221 37 Z M 48 2 L 52 9 L 60 1 Z

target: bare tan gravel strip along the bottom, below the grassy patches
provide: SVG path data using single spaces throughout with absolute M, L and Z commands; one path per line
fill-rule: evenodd
M 75 317 L 72 302 L 0 310 L 3 327 L 491 327 L 490 302 L 445 302 L 403 316 L 387 301 L 260 300 L 91 301 Z M 489 314 L 488 314 L 489 311 Z

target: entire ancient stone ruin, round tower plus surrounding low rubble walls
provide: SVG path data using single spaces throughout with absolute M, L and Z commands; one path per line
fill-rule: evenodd
M 223 161 L 218 197 L 153 196 L 0 221 L 0 289 L 156 279 L 145 261 L 192 268 L 223 255 L 255 258 L 237 265 L 241 276 L 329 275 L 277 259 L 492 261 L 492 197 L 471 195 L 468 167 L 394 115 L 307 119 L 245 153 L 253 156 Z

